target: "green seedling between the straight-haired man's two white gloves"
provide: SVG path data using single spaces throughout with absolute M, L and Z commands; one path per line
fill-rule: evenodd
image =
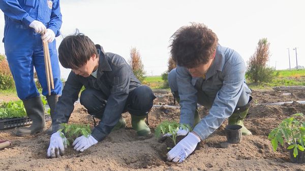
M 91 129 L 89 124 L 67 124 L 62 123 L 60 124 L 63 128 L 59 129 L 57 132 L 64 133 L 60 134 L 62 138 L 67 138 L 67 144 L 70 145 L 70 142 L 73 143 L 73 141 L 83 135 L 85 137 L 89 137 L 91 134 Z

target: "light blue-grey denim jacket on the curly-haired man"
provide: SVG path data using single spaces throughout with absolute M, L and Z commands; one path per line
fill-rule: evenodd
M 251 93 L 245 81 L 246 64 L 232 49 L 217 47 L 214 62 L 202 77 L 192 77 L 187 68 L 177 66 L 177 84 L 180 97 L 180 123 L 193 125 L 197 106 L 197 90 L 202 90 L 211 107 L 208 115 L 194 127 L 204 140 L 234 111 L 243 89 Z M 199 88 L 196 89 L 196 87 Z

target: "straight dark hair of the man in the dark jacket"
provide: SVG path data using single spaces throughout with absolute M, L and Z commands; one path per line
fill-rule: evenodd
M 65 37 L 58 48 L 58 59 L 65 68 L 81 67 L 93 54 L 98 57 L 94 42 L 88 36 L 78 32 Z

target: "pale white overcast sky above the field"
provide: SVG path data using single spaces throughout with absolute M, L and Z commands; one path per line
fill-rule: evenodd
M 247 62 L 258 40 L 270 42 L 269 65 L 276 69 L 305 65 L 305 1 L 99 1 L 62 0 L 63 36 L 80 32 L 95 44 L 130 58 L 131 47 L 142 57 L 147 75 L 160 75 L 167 69 L 171 35 L 181 26 L 200 22 L 212 29 L 224 47 L 236 50 Z M 4 17 L 0 14 L 0 35 Z M 63 37 L 57 37 L 57 47 Z M 0 44 L 4 53 L 4 44 Z M 70 70 L 62 68 L 62 77 Z

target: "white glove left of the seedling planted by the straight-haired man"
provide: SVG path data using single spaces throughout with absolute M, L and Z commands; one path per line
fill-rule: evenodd
M 67 139 L 60 137 L 63 133 L 53 133 L 50 139 L 50 145 L 47 151 L 47 156 L 49 158 L 55 158 L 64 155 L 65 148 L 67 148 Z

